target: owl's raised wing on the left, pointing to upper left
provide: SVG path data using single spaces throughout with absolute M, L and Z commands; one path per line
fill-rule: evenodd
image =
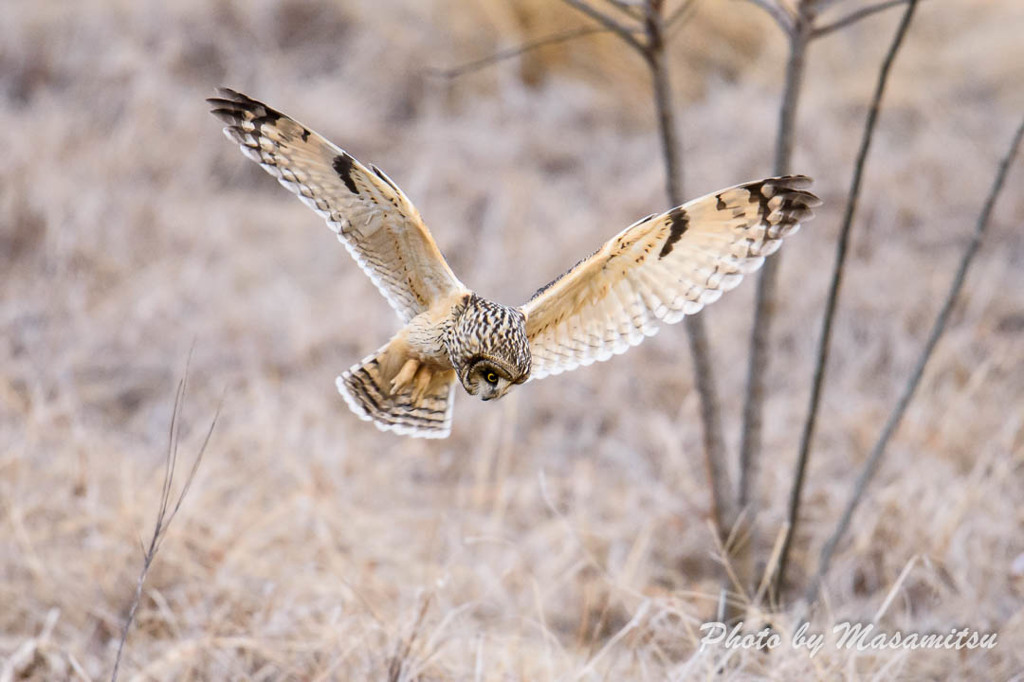
M 242 152 L 316 211 L 404 322 L 466 288 L 412 202 L 369 169 L 281 112 L 220 88 L 207 99 Z

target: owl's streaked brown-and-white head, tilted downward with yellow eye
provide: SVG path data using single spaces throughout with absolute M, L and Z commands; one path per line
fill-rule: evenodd
M 518 308 L 469 297 L 447 339 L 449 358 L 467 393 L 495 400 L 529 378 L 525 323 Z

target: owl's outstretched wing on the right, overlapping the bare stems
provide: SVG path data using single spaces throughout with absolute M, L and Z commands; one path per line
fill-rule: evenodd
M 608 359 L 718 300 L 812 217 L 810 184 L 749 182 L 627 227 L 522 306 L 530 379 Z

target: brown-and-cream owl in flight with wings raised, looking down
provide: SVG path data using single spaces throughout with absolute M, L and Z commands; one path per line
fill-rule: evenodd
M 410 436 L 449 435 L 456 382 L 494 400 L 608 359 L 697 312 L 758 269 L 820 204 L 803 175 L 722 189 L 638 220 L 509 307 L 459 281 L 380 169 L 262 102 L 218 95 L 207 101 L 227 137 L 327 220 L 404 324 L 337 385 L 361 419 Z

